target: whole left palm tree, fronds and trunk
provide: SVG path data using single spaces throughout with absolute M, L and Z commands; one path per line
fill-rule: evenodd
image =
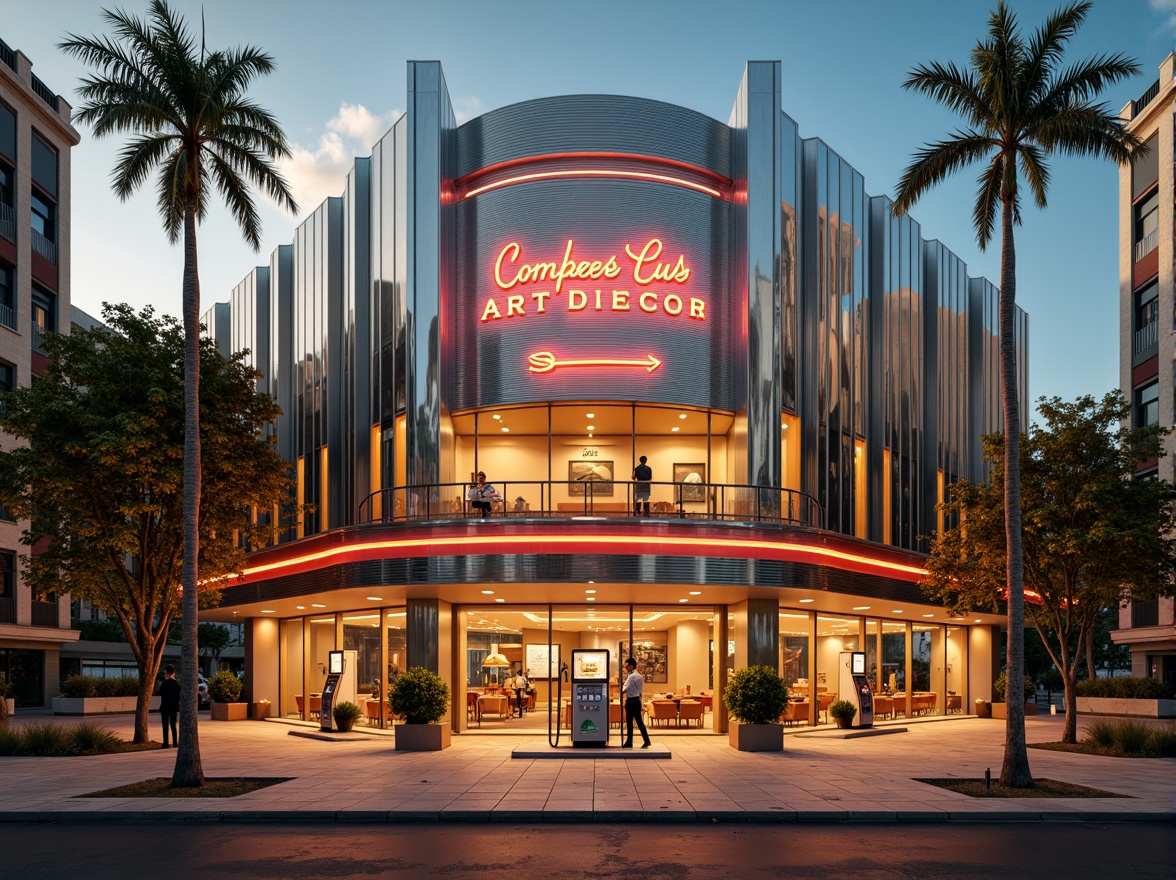
M 206 52 L 183 19 L 153 0 L 147 19 L 103 11 L 111 36 L 67 34 L 60 45 L 94 73 L 82 79 L 78 119 L 95 136 L 127 133 L 113 171 L 123 201 L 156 171 L 156 206 L 173 245 L 183 234 L 185 442 L 182 687 L 196 693 L 198 547 L 200 529 L 200 275 L 196 222 L 215 189 L 246 241 L 261 246 L 261 220 L 249 185 L 294 212 L 298 206 L 273 161 L 288 156 L 274 116 L 246 94 L 250 81 L 274 69 L 273 59 L 247 46 Z M 196 738 L 196 701 L 180 708 L 174 786 L 203 784 Z

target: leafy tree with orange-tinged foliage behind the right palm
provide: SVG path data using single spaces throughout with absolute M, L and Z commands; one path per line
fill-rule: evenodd
M 1165 429 L 1121 427 L 1131 407 L 1117 392 L 1101 401 L 1090 395 L 1074 402 L 1042 398 L 1037 408 L 1045 425 L 1034 425 L 1021 446 L 1025 607 L 1062 674 L 1062 741 L 1075 742 L 1075 686 L 1089 634 L 1107 608 L 1174 592 L 1176 486 L 1132 479 L 1141 464 L 1162 454 Z M 944 509 L 960 525 L 935 535 L 923 584 L 957 613 L 996 611 L 1004 592 L 1000 434 L 984 438 L 984 455 L 993 466 L 985 482 L 951 487 Z M 1013 694 L 1013 673 L 1007 678 L 1011 712 L 1021 696 Z

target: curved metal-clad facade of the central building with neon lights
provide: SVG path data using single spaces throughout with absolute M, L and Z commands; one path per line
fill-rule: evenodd
M 996 291 L 801 139 L 780 78 L 749 64 L 726 124 L 572 95 L 457 126 L 409 64 L 407 113 L 233 298 L 313 505 L 209 614 L 250 621 L 252 699 L 309 715 L 342 648 L 372 692 L 440 672 L 462 729 L 490 655 L 554 702 L 556 645 L 667 692 L 767 662 L 810 722 L 841 649 L 895 711 L 990 696 L 998 619 L 916 584 L 1000 427 Z

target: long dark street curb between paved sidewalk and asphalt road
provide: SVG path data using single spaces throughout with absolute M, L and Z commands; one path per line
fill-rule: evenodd
M 172 822 L 316 822 L 335 825 L 536 825 L 581 824 L 615 825 L 617 822 L 641 822 L 647 825 L 918 825 L 944 822 L 1162 822 L 1176 825 L 1172 812 L 1062 812 L 1053 809 L 1021 812 L 974 812 L 974 811 L 688 811 L 644 812 L 640 809 L 256 809 L 256 811 L 94 811 L 71 812 L 29 811 L 0 813 L 0 825 L 167 825 Z

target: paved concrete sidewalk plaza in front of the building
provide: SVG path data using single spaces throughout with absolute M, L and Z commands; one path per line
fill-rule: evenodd
M 28 716 L 15 721 L 27 722 Z M 35 720 L 48 720 L 39 718 Z M 67 719 L 59 719 L 66 721 Z M 129 739 L 129 716 L 100 721 Z M 158 736 L 158 716 L 152 718 Z M 726 736 L 667 735 L 668 760 L 512 759 L 546 736 L 463 734 L 440 753 L 396 752 L 388 735 L 343 741 L 289 735 L 282 722 L 209 722 L 207 776 L 289 776 L 225 799 L 92 799 L 105 788 L 169 776 L 174 751 L 92 758 L 0 758 L 0 821 L 1058 821 L 1176 818 L 1176 761 L 1030 749 L 1036 778 L 1125 798 L 968 798 L 915 781 L 1000 774 L 1004 724 L 944 719 L 903 733 L 846 739 L 788 729 L 782 754 L 736 752 Z M 1061 716 L 1028 719 L 1030 742 L 1061 738 Z M 1080 725 L 1081 728 L 1081 725 Z M 306 729 L 306 728 L 302 728 Z M 640 751 L 635 749 L 637 754 Z

